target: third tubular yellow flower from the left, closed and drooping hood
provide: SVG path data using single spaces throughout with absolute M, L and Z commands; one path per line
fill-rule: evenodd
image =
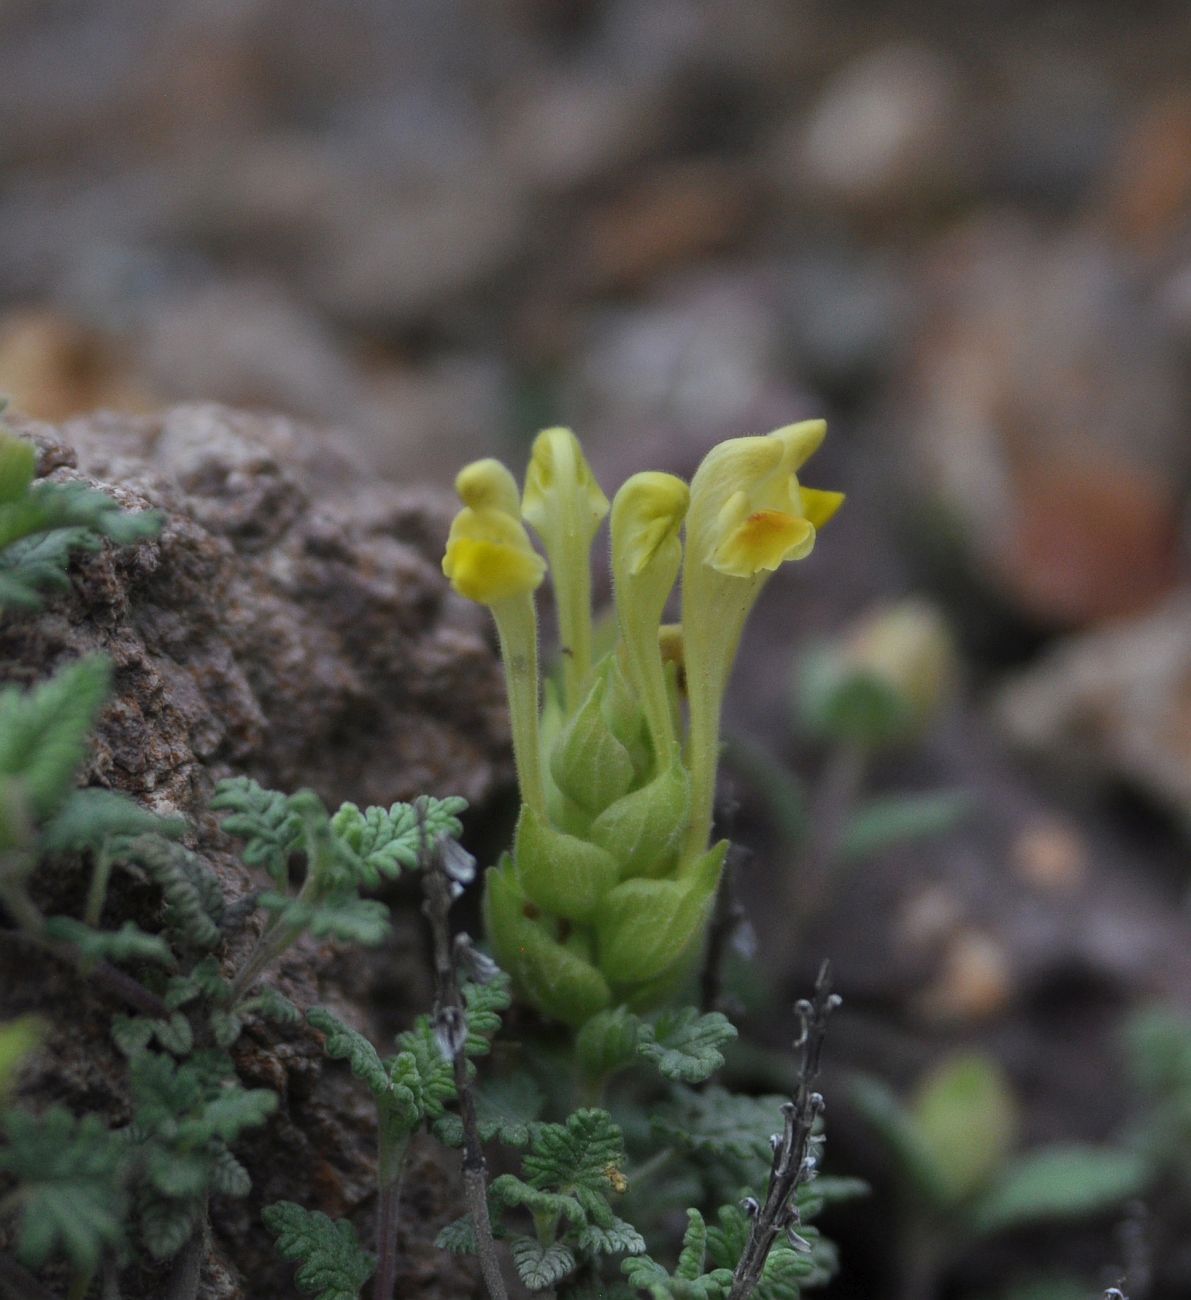
M 670 760 L 675 744 L 658 630 L 683 560 L 679 529 L 689 500 L 681 478 L 648 472 L 633 474 L 612 503 L 616 619 L 658 767 Z

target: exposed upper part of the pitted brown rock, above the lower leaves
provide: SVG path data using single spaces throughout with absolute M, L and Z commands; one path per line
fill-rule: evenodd
M 484 620 L 438 569 L 445 494 L 368 478 L 330 434 L 215 406 L 13 426 L 52 477 L 166 512 L 155 542 L 83 556 L 69 597 L 0 629 L 9 679 L 111 655 L 101 784 L 190 812 L 231 771 L 360 805 L 482 800 L 508 776 Z

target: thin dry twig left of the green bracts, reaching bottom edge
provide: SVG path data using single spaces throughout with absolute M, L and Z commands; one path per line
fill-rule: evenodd
M 488 1162 L 476 1123 L 476 1102 L 467 1071 L 467 1009 L 459 991 L 455 966 L 456 949 L 451 944 L 449 913 L 463 885 L 475 875 L 475 862 L 447 837 L 428 842 L 424 809 L 416 805 L 423 842 L 421 880 L 425 893 L 423 911 L 430 922 L 434 949 L 434 1035 L 455 1071 L 455 1092 L 463 1121 L 463 1192 L 476 1232 L 476 1253 L 490 1300 L 508 1300 L 497 1242 L 488 1216 Z

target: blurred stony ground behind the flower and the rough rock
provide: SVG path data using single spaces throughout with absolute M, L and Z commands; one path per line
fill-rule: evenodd
M 569 424 L 610 494 L 827 416 L 849 503 L 729 711 L 726 996 L 780 1048 L 835 962 L 878 1197 L 831 1295 L 1191 1294 L 1191 8 L 3 0 L 0 48 L 29 415 L 277 410 L 443 486 Z M 923 1227 L 848 1080 L 954 1061 L 979 1149 L 1144 1149 L 1148 1195 Z

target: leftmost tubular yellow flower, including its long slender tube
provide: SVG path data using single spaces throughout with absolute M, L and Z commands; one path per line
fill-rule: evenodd
M 534 811 L 543 812 L 533 593 L 546 573 L 546 562 L 529 542 L 517 516 L 516 481 L 499 460 L 465 465 L 455 480 L 455 490 L 464 504 L 451 524 L 442 571 L 460 595 L 486 604 L 493 612 L 521 798 Z

